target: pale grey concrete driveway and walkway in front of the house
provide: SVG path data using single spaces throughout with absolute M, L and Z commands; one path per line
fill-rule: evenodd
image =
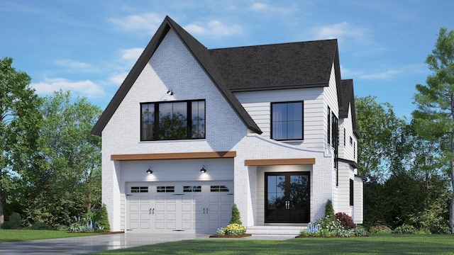
M 0 254 L 85 254 L 111 249 L 123 249 L 162 242 L 209 239 L 209 234 L 102 234 L 0 244 Z M 241 239 L 285 240 L 289 236 L 252 236 Z

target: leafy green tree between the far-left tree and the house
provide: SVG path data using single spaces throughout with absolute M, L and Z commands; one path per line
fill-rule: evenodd
M 36 171 L 30 180 L 26 221 L 67 224 L 101 206 L 101 139 L 91 134 L 101 110 L 85 98 L 57 91 L 40 107 Z

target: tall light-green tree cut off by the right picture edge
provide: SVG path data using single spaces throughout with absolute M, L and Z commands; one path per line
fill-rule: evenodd
M 416 84 L 413 112 L 415 129 L 426 140 L 441 140 L 443 156 L 449 162 L 448 175 L 454 188 L 454 30 L 441 28 L 435 49 L 426 59 L 433 72 L 426 85 Z M 454 234 L 454 193 L 450 203 L 449 225 Z

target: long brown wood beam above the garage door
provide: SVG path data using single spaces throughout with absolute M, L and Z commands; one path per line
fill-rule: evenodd
M 150 154 L 112 154 L 111 160 L 160 160 L 160 159 L 227 159 L 236 157 L 236 152 L 181 152 Z

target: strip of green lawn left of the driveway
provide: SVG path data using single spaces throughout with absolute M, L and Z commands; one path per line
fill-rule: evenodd
M 98 233 L 68 233 L 67 231 L 57 230 L 9 230 L 0 229 L 0 243 L 2 242 L 20 242 L 40 239 L 54 239 L 65 237 L 84 237 Z

